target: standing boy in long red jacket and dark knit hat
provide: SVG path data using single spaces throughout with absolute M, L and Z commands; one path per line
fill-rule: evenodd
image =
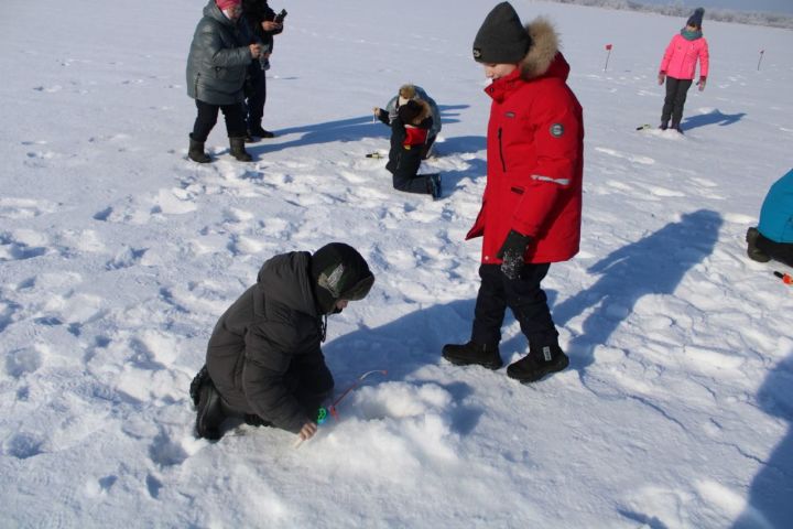
M 567 367 L 547 298 L 540 287 L 551 262 L 578 252 L 584 169 L 582 107 L 566 84 L 569 65 L 551 24 L 525 28 L 509 2 L 496 6 L 474 41 L 474 58 L 492 79 L 487 185 L 467 238 L 484 236 L 471 339 L 448 344 L 456 365 L 503 363 L 501 325 L 512 310 L 530 350 L 507 368 L 521 382 Z

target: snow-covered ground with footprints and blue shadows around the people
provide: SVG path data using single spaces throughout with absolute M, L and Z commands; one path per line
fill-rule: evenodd
M 488 2 L 285 7 L 265 127 L 198 165 L 184 68 L 199 0 L 12 2 L 0 20 L 0 526 L 793 527 L 793 291 L 743 236 L 791 169 L 793 32 L 705 21 L 685 137 L 655 130 L 683 20 L 515 0 L 562 34 L 586 120 L 582 252 L 544 285 L 572 357 L 524 387 L 468 338 Z M 493 2 L 495 3 L 495 2 Z M 613 44 L 604 72 L 606 44 Z M 757 69 L 760 50 L 764 58 Z M 445 196 L 391 188 L 370 109 L 441 105 Z M 270 256 L 343 240 L 370 296 L 329 322 L 339 422 L 193 436 L 187 387 Z M 502 355 L 526 344 L 508 321 Z

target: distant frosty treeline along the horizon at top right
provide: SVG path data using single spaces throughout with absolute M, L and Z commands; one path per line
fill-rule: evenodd
M 623 9 L 628 11 L 642 11 L 670 17 L 688 17 L 694 9 L 681 4 L 645 6 L 631 0 L 550 0 L 558 3 L 574 3 L 593 8 Z M 770 25 L 772 28 L 793 29 L 793 17 L 772 13 L 749 13 L 727 9 L 705 9 L 705 22 L 717 20 L 719 22 L 735 22 L 737 24 Z

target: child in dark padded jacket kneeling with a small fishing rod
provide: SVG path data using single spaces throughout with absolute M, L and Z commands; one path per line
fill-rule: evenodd
M 215 325 L 206 365 L 191 385 L 197 435 L 219 439 L 228 417 L 302 440 L 314 435 L 334 387 L 321 348 L 327 315 L 362 300 L 373 283 L 363 257 L 344 242 L 264 262 L 257 283 Z

